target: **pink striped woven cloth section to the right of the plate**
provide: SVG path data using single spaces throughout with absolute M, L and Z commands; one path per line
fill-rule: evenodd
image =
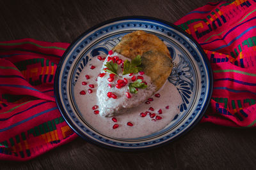
M 256 126 L 256 1 L 221 1 L 175 23 L 191 34 L 211 62 L 213 93 L 202 122 Z

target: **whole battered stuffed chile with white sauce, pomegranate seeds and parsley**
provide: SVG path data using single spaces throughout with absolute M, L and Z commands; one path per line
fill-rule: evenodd
M 97 78 L 99 114 L 113 117 L 143 103 L 172 72 L 172 58 L 161 39 L 144 31 L 125 35 L 103 62 Z

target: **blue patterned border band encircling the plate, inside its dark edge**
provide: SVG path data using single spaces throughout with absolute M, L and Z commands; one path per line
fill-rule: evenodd
M 134 22 L 134 24 L 113 24 L 111 26 L 108 27 L 104 27 L 104 29 L 100 29 L 97 32 L 91 32 L 93 31 L 93 29 L 97 28 L 97 27 L 101 27 L 102 25 L 106 24 L 106 23 L 113 23 L 116 21 L 122 21 L 122 22 L 126 22 L 127 20 L 138 20 L 138 22 Z M 153 24 L 141 24 L 141 22 L 154 22 Z M 168 26 L 170 27 L 170 29 L 166 29 L 164 28 L 162 25 L 164 26 Z M 198 46 L 198 44 L 193 41 L 193 39 L 186 34 L 185 32 L 181 31 L 178 27 L 176 27 L 175 25 L 172 25 L 170 23 L 161 21 L 161 20 L 157 20 L 156 18 L 144 18 L 144 17 L 128 17 L 128 18 L 117 18 L 115 20 L 110 20 L 108 22 L 104 22 L 103 24 L 100 24 L 97 27 L 93 27 L 91 30 L 86 31 L 84 34 L 82 34 L 79 38 L 77 38 L 76 41 L 74 41 L 74 43 L 72 43 L 72 45 L 67 49 L 67 51 L 65 52 L 65 54 L 63 55 L 63 59 L 61 60 L 59 66 L 58 66 L 58 70 L 56 72 L 56 79 L 55 79 L 55 93 L 56 93 L 56 101 L 58 104 L 58 107 L 60 108 L 61 114 L 63 115 L 63 117 L 65 118 L 65 120 L 67 121 L 67 123 L 70 125 L 70 127 L 72 127 L 72 129 L 74 129 L 74 131 L 77 132 L 77 134 L 79 134 L 80 136 L 82 136 L 83 138 L 88 139 L 88 137 L 90 138 L 90 141 L 92 140 L 93 143 L 97 143 L 100 145 L 100 143 L 98 143 L 97 141 L 94 141 L 94 139 L 97 139 L 99 141 L 102 141 L 103 143 L 105 143 L 106 146 L 112 146 L 114 148 L 116 148 L 115 146 L 121 146 L 123 149 L 127 148 L 127 149 L 131 149 L 131 148 L 140 148 L 140 146 L 147 146 L 147 147 L 155 147 L 157 143 L 163 143 L 163 141 L 170 141 L 168 139 L 172 138 L 173 136 L 175 136 L 175 138 L 177 138 L 178 136 L 180 136 L 180 134 L 184 134 L 184 132 L 180 133 L 181 131 L 183 131 L 186 127 L 186 131 L 188 131 L 191 127 L 193 127 L 193 125 L 195 125 L 200 118 L 202 117 L 205 108 L 207 107 L 207 105 L 209 104 L 209 99 L 211 97 L 211 92 L 212 92 L 212 73 L 211 73 L 211 67 L 209 67 L 209 61 L 207 61 L 206 57 L 204 56 L 204 52 L 202 51 L 202 49 L 200 48 L 200 46 Z M 201 87 L 202 89 L 205 89 L 205 87 L 209 87 L 209 92 L 206 92 L 204 90 L 204 92 L 202 92 L 202 94 L 200 94 L 200 99 L 199 102 L 196 106 L 196 110 L 194 113 L 191 113 L 191 116 L 188 118 L 188 120 L 180 125 L 179 129 L 177 129 L 175 132 L 172 132 L 171 134 L 168 134 L 167 136 L 164 136 L 163 138 L 157 139 L 157 140 L 152 140 L 150 142 L 146 142 L 146 143 L 131 143 L 132 140 L 127 140 L 125 141 L 126 143 L 122 143 L 122 142 L 116 142 L 116 141 L 111 141 L 109 139 L 105 139 L 102 138 L 102 136 L 98 136 L 97 134 L 95 134 L 94 132 L 90 131 L 89 129 L 87 129 L 86 127 L 84 127 L 83 124 L 81 124 L 81 122 L 79 122 L 79 119 L 76 117 L 77 115 L 75 113 L 72 112 L 72 108 L 70 106 L 70 104 L 68 103 L 61 103 L 61 99 L 60 99 L 60 95 L 58 95 L 60 93 L 59 90 L 59 86 L 61 86 L 61 93 L 63 96 L 63 101 L 68 101 L 68 97 L 67 97 L 67 79 L 68 79 L 68 72 L 71 69 L 71 65 L 73 64 L 74 61 L 76 61 L 77 55 L 83 51 L 83 48 L 90 44 L 91 41 L 93 41 L 93 39 L 97 39 L 98 36 L 100 36 L 100 34 L 105 34 L 106 32 L 110 32 L 110 31 L 115 31 L 115 29 L 118 28 L 122 28 L 124 29 L 124 27 L 129 27 L 131 29 L 136 29 L 136 27 L 143 27 L 145 29 L 147 29 L 148 31 L 150 31 L 150 29 L 154 30 L 154 31 L 161 31 L 164 32 L 166 34 L 166 36 L 170 36 L 172 38 L 177 39 L 177 41 L 179 41 L 180 43 L 182 43 L 184 46 L 187 47 L 187 49 L 189 50 L 189 53 L 194 57 L 194 59 L 198 62 L 198 66 L 200 66 L 201 72 L 204 73 L 202 74 L 202 81 L 201 83 Z M 137 28 L 138 29 L 138 28 Z M 184 37 L 186 37 L 185 40 L 184 38 L 182 38 L 181 36 L 179 36 L 178 34 L 176 34 L 175 32 L 173 32 L 171 29 L 175 29 L 177 32 L 182 32 L 182 34 L 184 34 Z M 88 34 L 88 33 L 91 34 Z M 76 46 L 76 43 L 78 41 L 81 40 L 81 38 L 83 38 L 86 35 L 89 35 L 86 39 L 84 39 L 77 47 L 76 49 L 70 54 L 70 51 L 73 50 L 74 46 Z M 193 46 L 190 46 L 189 43 L 187 41 L 191 41 L 193 42 L 193 44 L 196 46 L 196 48 L 200 51 L 200 53 L 196 53 L 195 52 L 195 47 L 193 48 Z M 65 64 L 63 63 L 64 59 L 67 56 L 70 56 L 68 58 L 68 61 L 65 62 Z M 200 56 L 198 56 L 200 55 Z M 202 60 L 200 60 L 200 58 Z M 83 59 L 82 59 L 83 60 Z M 86 63 L 88 62 L 88 59 L 86 60 L 86 58 L 83 60 L 83 64 L 81 67 L 84 67 L 86 65 Z M 206 70 L 205 68 L 206 67 Z M 63 73 L 60 73 L 61 68 L 63 68 Z M 78 67 L 77 67 L 78 69 Z M 72 71 L 74 71 L 74 68 L 72 69 Z M 207 72 L 208 71 L 208 72 Z M 209 77 L 209 81 L 207 81 L 205 79 L 205 74 L 208 74 Z M 61 83 L 60 83 L 60 75 L 61 75 Z M 79 75 L 77 75 L 79 76 Z M 59 84 L 60 83 L 60 84 Z M 64 105 L 64 106 L 63 106 Z M 68 113 L 65 113 L 64 107 L 68 110 Z M 72 124 L 72 121 L 70 121 L 70 117 L 73 119 L 74 122 L 76 122 L 76 125 Z M 196 118 L 196 120 L 194 120 L 194 118 Z M 191 122 L 194 120 L 193 124 L 191 124 Z M 80 127 L 81 129 L 83 129 L 84 132 L 86 132 L 86 136 L 84 136 L 84 132 L 81 132 L 76 126 Z M 163 131 L 166 131 L 166 129 L 164 129 Z M 180 133 L 180 134 L 179 134 Z M 130 142 L 130 143 L 129 143 Z M 102 143 L 101 143 L 102 145 Z M 142 149 L 142 147 L 141 147 Z

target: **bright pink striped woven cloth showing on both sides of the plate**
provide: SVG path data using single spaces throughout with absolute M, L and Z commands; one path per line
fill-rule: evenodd
M 256 123 L 256 1 L 209 3 L 175 24 L 204 48 L 214 74 L 201 122 Z M 0 159 L 29 160 L 77 135 L 56 106 L 54 73 L 68 43 L 0 42 Z

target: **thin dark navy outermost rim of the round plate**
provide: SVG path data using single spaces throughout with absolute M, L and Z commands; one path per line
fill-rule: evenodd
M 160 22 L 161 24 L 166 24 L 170 27 L 173 27 L 173 29 L 176 29 L 177 31 L 179 31 L 181 34 L 184 34 L 184 36 L 186 36 L 186 38 L 188 38 L 189 41 L 191 41 L 191 43 L 194 44 L 194 46 L 197 48 L 198 52 L 200 52 L 200 54 L 202 55 L 202 58 L 204 60 L 205 66 L 207 66 L 208 68 L 208 73 L 209 73 L 209 91 L 207 92 L 207 96 L 208 98 L 205 99 L 205 104 L 202 107 L 202 110 L 200 111 L 198 117 L 195 119 L 195 121 L 189 125 L 183 132 L 181 132 L 180 134 L 178 134 L 177 136 L 175 136 L 174 138 L 165 141 L 164 143 L 159 143 L 158 145 L 154 145 L 154 146 L 147 146 L 147 147 L 143 147 L 143 148 L 120 148 L 120 147 L 115 147 L 115 146 L 109 146 L 106 145 L 104 143 L 99 143 L 98 141 L 95 141 L 87 136 L 84 135 L 84 132 L 80 131 L 75 124 L 72 123 L 72 121 L 70 120 L 70 118 L 68 117 L 67 113 L 65 113 L 63 105 L 61 103 L 60 100 L 60 93 L 59 93 L 59 86 L 60 86 L 60 82 L 58 81 L 59 76 L 60 76 L 60 70 L 61 70 L 61 66 L 63 65 L 63 62 L 65 60 L 65 57 L 67 57 L 68 52 L 70 52 L 70 48 L 72 49 L 72 47 L 74 45 L 76 45 L 77 41 L 79 41 L 79 39 L 83 38 L 84 36 L 86 36 L 88 33 L 92 32 L 93 30 L 102 27 L 103 25 L 106 24 L 111 24 L 112 22 L 117 22 L 117 21 L 121 21 L 121 20 L 129 20 L 129 19 L 141 19 L 141 20 L 150 20 L 152 22 Z M 211 101 L 211 96 L 212 96 L 212 90 L 213 90 L 213 74 L 212 74 L 212 68 L 211 68 L 211 64 L 209 62 L 209 59 L 207 58 L 207 55 L 205 54 L 204 50 L 202 49 L 202 47 L 196 42 L 196 40 L 189 35 L 187 32 L 183 31 L 180 27 L 178 27 L 177 25 L 172 24 L 171 22 L 167 22 L 165 20 L 161 20 L 159 18 L 155 18 L 155 17 L 147 17 L 147 16 L 140 16 L 140 15 L 132 15 L 132 16 L 126 16 L 126 17 L 116 17 L 116 18 L 111 18 L 109 20 L 106 20 L 104 22 L 100 22 L 97 25 L 94 25 L 93 27 L 90 27 L 90 29 L 87 29 L 86 31 L 84 31 L 82 34 L 80 34 L 76 39 L 74 39 L 74 41 L 72 41 L 72 43 L 70 43 L 70 45 L 68 46 L 68 48 L 65 50 L 65 52 L 63 53 L 60 62 L 58 63 L 58 66 L 56 68 L 56 74 L 54 77 L 54 98 L 56 100 L 56 104 L 58 106 L 58 110 L 60 111 L 62 117 L 64 118 L 65 122 L 67 122 L 68 126 L 74 131 L 76 132 L 76 134 L 78 136 L 80 136 L 81 138 L 85 139 L 86 141 L 88 141 L 89 143 L 93 143 L 97 146 L 100 146 L 102 148 L 108 148 L 111 150 L 118 150 L 118 151 L 139 151 L 139 150 L 150 150 L 153 148 L 158 148 L 160 146 L 164 146 L 167 145 L 168 143 L 171 143 L 173 141 L 176 141 L 177 139 L 179 139 L 180 137 L 184 136 L 184 134 L 187 134 L 188 132 L 191 131 L 191 129 L 193 129 L 195 127 L 195 125 L 198 125 L 198 122 L 200 122 L 200 120 L 202 119 L 202 117 L 204 116 L 205 111 L 207 110 L 210 101 Z

